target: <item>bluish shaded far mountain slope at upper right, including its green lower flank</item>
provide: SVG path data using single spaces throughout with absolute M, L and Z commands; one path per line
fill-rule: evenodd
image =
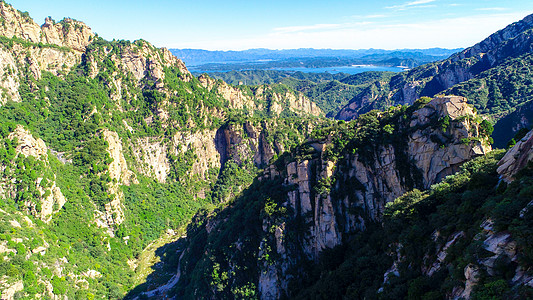
M 392 77 L 354 97 L 337 115 L 351 120 L 372 108 L 413 103 L 421 96 L 464 96 L 494 123 L 532 97 L 533 16 L 492 34 L 450 58 Z M 509 133 L 498 140 L 512 138 Z M 499 144 L 499 146 L 502 146 Z

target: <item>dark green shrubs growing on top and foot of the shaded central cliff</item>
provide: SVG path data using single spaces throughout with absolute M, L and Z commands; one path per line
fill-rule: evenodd
M 408 189 L 421 188 L 423 184 L 420 170 L 405 156 L 406 141 L 409 134 L 422 129 L 411 127 L 409 123 L 414 111 L 424 107 L 429 100 L 422 98 L 411 107 L 393 107 L 385 112 L 372 111 L 352 122 L 341 121 L 327 128 L 318 128 L 311 134 L 310 141 L 293 148 L 291 153 L 280 156 L 274 162 L 275 170 L 282 174 L 281 177 L 260 176 L 229 207 L 195 216 L 188 226 L 187 246 L 183 246 L 182 249 L 186 250 L 183 250 L 183 258 L 180 260 L 181 279 L 173 294 L 183 299 L 259 297 L 258 274 L 268 268 L 268 265 L 279 266 L 282 263 L 282 257 L 276 251 L 279 247 L 277 248 L 273 237 L 281 226 L 286 242 L 284 245 L 287 247 L 286 255 L 291 257 L 288 272 L 292 274 L 293 281 L 289 284 L 289 298 L 300 293 L 302 299 L 332 296 L 342 298 L 342 295 L 348 298 L 357 295 L 361 298 L 363 295 L 375 296 L 383 282 L 383 273 L 392 264 L 387 255 L 390 252 L 387 247 L 392 243 L 390 239 L 397 236 L 390 235 L 390 239 L 384 239 L 383 236 L 387 233 L 383 232 L 379 224 L 373 223 L 362 207 L 350 206 L 350 211 L 354 209 L 352 213 L 358 214 L 369 224 L 367 231 L 357 231 L 354 237 L 345 239 L 347 243 L 343 246 L 324 251 L 323 261 L 320 263 L 308 261 L 301 248 L 309 234 L 311 221 L 303 215 L 295 216 L 293 208 L 287 206 L 287 193 L 297 187 L 288 184 L 289 179 L 284 179 L 284 176 L 289 176 L 286 166 L 295 161 L 308 161 L 311 174 L 318 174 L 320 157 L 336 162 L 336 172 L 331 178 L 309 178 L 312 186 L 310 197 L 323 195 L 330 196 L 332 203 L 340 203 L 343 201 L 341 199 L 355 203 L 355 195 L 365 187 L 356 178 L 346 177 L 350 172 L 349 161 L 354 155 L 358 155 L 365 165 L 372 166 L 376 152 L 382 146 L 393 145 L 402 184 Z M 477 122 L 483 123 L 481 119 Z M 490 136 L 489 125 L 481 126 L 484 130 L 481 136 Z M 458 126 L 455 121 L 446 118 L 440 120 L 438 116 L 426 125 L 434 129 L 432 132 L 435 136 L 440 134 L 439 130 L 445 133 L 448 127 L 454 126 Z M 323 153 L 312 147 L 318 141 L 328 141 Z M 495 159 L 491 158 L 493 165 Z M 339 224 L 335 226 L 342 228 L 344 217 L 336 220 Z M 352 238 L 357 242 L 349 246 Z M 419 255 L 418 252 L 417 254 Z M 356 261 L 359 259 L 361 260 Z M 336 284 L 352 284 L 350 293 L 346 292 L 344 286 L 337 288 L 331 284 L 335 291 L 326 288 L 329 281 L 324 286 L 317 287 L 320 292 L 314 290 L 312 285 L 319 278 L 338 280 L 339 278 L 328 276 L 340 264 L 348 263 L 347 260 L 350 260 L 350 265 L 342 272 L 352 277 L 342 278 Z M 167 263 L 172 265 L 170 261 Z M 205 274 L 210 275 L 206 277 Z M 359 274 L 368 274 L 368 278 L 360 280 Z

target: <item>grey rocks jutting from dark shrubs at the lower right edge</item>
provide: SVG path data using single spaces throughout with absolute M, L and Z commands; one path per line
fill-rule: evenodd
M 513 148 L 507 151 L 495 165 L 495 175 L 499 176 L 500 181 L 498 184 L 500 186 L 513 182 L 518 172 L 531 169 L 528 163 L 533 158 L 531 154 L 532 136 L 533 132 L 529 132 Z M 522 180 L 528 180 L 527 175 L 521 177 Z M 527 184 L 525 186 L 527 187 Z M 512 192 L 509 193 L 509 196 L 516 197 Z M 515 222 L 517 227 L 520 228 L 518 224 L 531 222 L 529 215 L 531 201 L 528 198 L 525 201 L 521 200 L 520 198 L 522 197 L 520 195 L 516 198 L 513 199 L 516 201 L 516 203 L 513 203 L 516 208 L 511 209 L 511 211 L 514 210 L 514 217 L 517 218 Z M 520 202 L 522 204 L 519 204 Z M 511 211 L 507 211 L 506 214 L 513 215 Z M 465 279 L 464 285 L 454 288 L 449 294 L 449 298 L 470 299 L 474 292 L 477 291 L 479 293 L 479 290 L 483 289 L 480 286 L 484 283 L 486 284 L 487 277 L 498 278 L 501 276 L 502 261 L 505 261 L 506 264 L 505 267 L 507 269 L 505 272 L 507 272 L 507 275 L 505 277 L 509 286 L 512 286 L 514 289 L 519 289 L 520 286 L 525 287 L 522 289 L 526 290 L 533 288 L 533 276 L 525 271 L 528 267 L 524 265 L 523 261 L 524 256 L 527 256 L 524 253 L 524 251 L 528 251 L 526 250 L 527 246 L 520 242 L 521 236 L 523 234 L 528 235 L 529 233 L 524 232 L 523 228 L 518 230 L 503 230 L 507 224 L 502 224 L 501 219 L 498 220 L 499 217 L 498 214 L 483 216 L 482 222 L 476 230 L 478 235 L 474 240 L 477 239 L 479 241 L 480 247 L 485 253 L 483 256 L 476 257 L 473 262 L 464 267 L 462 270 Z M 438 232 L 435 232 L 435 234 L 438 234 Z M 437 240 L 437 237 L 434 236 L 434 239 Z M 442 270 L 446 265 L 446 258 L 453 255 L 450 253 L 453 251 L 453 246 L 457 246 L 458 242 L 465 239 L 467 239 L 465 232 L 457 231 L 451 234 L 447 240 L 441 241 L 437 246 L 439 249 L 436 255 L 437 259 L 431 267 L 425 268 L 423 272 L 431 276 L 435 272 Z

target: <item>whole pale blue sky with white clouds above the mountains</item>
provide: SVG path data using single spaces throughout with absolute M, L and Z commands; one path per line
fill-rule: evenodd
M 533 13 L 531 0 L 7 2 L 38 24 L 71 17 L 108 40 L 208 50 L 468 47 Z

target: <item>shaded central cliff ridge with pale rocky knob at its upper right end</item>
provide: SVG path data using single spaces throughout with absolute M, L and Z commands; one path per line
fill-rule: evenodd
M 303 262 L 317 261 L 324 250 L 345 242 L 345 236 L 381 220 L 386 203 L 412 188 L 428 188 L 465 161 L 490 151 L 480 122 L 466 99 L 441 97 L 319 131 L 319 136 L 326 135 L 280 157 L 234 207 L 194 229 L 182 274 L 205 272 L 194 262 L 207 260 L 219 266 L 218 273 L 235 274 L 220 283 L 222 288 L 211 286 L 207 294 L 226 295 L 249 282 L 261 298 L 279 298 Z M 254 204 L 244 208 L 244 203 Z M 247 210 L 241 212 L 250 216 L 247 221 L 235 219 L 239 209 Z M 254 214 L 261 217 L 254 219 Z M 232 221 L 221 222 L 224 218 Z M 237 235 L 226 236 L 228 232 Z M 197 234 L 207 234 L 207 242 L 195 239 Z M 227 241 L 215 236 L 226 236 Z M 226 252 L 226 247 L 234 252 Z M 198 249 L 206 256 L 198 258 Z M 249 261 L 250 255 L 258 262 Z M 235 271 L 243 265 L 251 270 Z M 243 273 L 253 279 L 241 277 Z M 178 290 L 198 284 L 178 283 Z

